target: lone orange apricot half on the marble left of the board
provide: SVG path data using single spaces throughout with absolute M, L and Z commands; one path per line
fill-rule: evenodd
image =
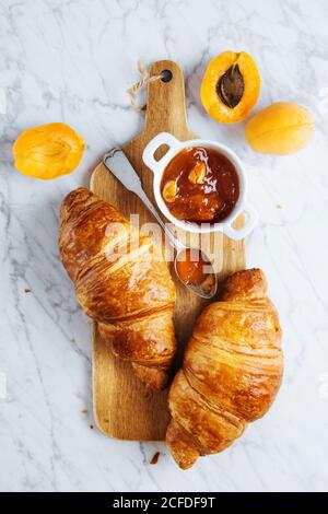
M 30 177 L 56 178 L 78 166 L 84 148 L 83 138 L 68 125 L 42 125 L 25 130 L 16 139 L 15 167 Z

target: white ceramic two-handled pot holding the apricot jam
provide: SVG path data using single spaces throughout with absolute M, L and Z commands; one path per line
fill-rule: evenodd
M 162 159 L 156 161 L 154 154 L 156 150 L 163 144 L 168 147 L 168 150 Z M 162 197 L 161 182 L 165 167 L 172 161 L 172 159 L 181 150 L 194 147 L 214 149 L 225 155 L 235 166 L 239 180 L 239 197 L 232 212 L 223 221 L 215 223 L 195 223 L 179 220 L 169 212 Z M 206 234 L 210 232 L 222 232 L 234 241 L 243 240 L 255 227 L 258 221 L 258 214 L 257 211 L 247 203 L 247 176 L 244 166 L 237 155 L 224 144 L 203 139 L 179 141 L 168 132 L 161 132 L 148 143 L 143 151 L 142 159 L 144 164 L 154 174 L 153 188 L 154 197 L 159 209 L 165 215 L 165 218 L 172 223 L 174 223 L 177 227 L 183 229 L 187 232 L 194 232 L 199 234 Z M 241 229 L 234 229 L 232 225 L 242 212 L 244 212 L 246 215 L 245 223 Z

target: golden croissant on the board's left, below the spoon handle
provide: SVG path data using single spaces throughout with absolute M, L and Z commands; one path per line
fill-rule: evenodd
M 162 252 L 87 189 L 66 197 L 60 218 L 60 256 L 79 303 L 114 354 L 150 387 L 164 388 L 176 340 L 175 287 Z

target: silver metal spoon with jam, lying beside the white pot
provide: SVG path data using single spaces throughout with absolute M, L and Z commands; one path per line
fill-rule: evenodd
M 154 208 L 153 203 L 148 198 L 147 194 L 142 189 L 141 182 L 139 178 L 138 173 L 133 170 L 131 163 L 129 162 L 128 157 L 124 153 L 120 148 L 113 148 L 104 155 L 103 160 L 104 165 L 106 168 L 113 173 L 113 175 L 129 190 L 134 192 L 140 200 L 144 203 L 144 206 L 151 211 L 153 217 L 156 219 L 159 224 L 162 226 L 163 231 L 165 232 L 169 243 L 176 249 L 176 257 L 174 260 L 174 269 L 183 282 L 183 284 L 190 289 L 194 293 L 198 294 L 204 299 L 211 299 L 216 293 L 218 289 L 218 278 L 214 272 L 213 266 L 208 259 L 208 257 L 201 253 L 202 259 L 206 261 L 207 267 L 210 267 L 209 272 L 207 273 L 207 278 L 200 284 L 188 283 L 183 280 L 179 270 L 178 270 L 178 262 L 181 260 L 181 253 L 186 253 L 188 247 L 184 245 L 176 235 L 166 226 L 163 222 L 161 215 L 159 214 L 157 210 Z M 198 248 L 190 248 L 190 250 L 195 250 L 199 253 Z

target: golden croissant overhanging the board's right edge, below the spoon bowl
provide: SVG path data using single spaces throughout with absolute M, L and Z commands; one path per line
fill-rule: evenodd
M 180 468 L 225 449 L 267 412 L 282 377 L 280 340 L 262 271 L 234 273 L 200 315 L 169 389 L 166 443 Z

